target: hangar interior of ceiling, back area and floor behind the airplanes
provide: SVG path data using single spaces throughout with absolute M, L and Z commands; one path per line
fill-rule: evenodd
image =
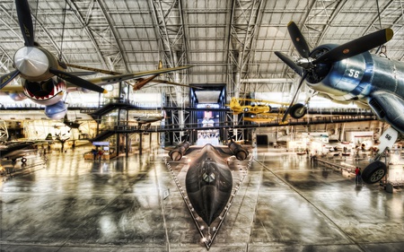
M 49 119 L 46 106 L 13 91 L 21 86 L 21 76 L 7 84 L 10 91 L 0 90 L 2 140 L 45 140 L 50 134 L 55 141 L 40 145 L 48 155 L 28 158 L 28 165 L 2 161 L 2 251 L 402 248 L 400 141 L 385 157 L 393 188 L 388 188 L 387 178 L 380 185 L 355 183 L 355 167 L 366 166 L 373 144 L 389 124 L 358 103 L 313 96 L 308 85 L 300 87 L 302 76 L 275 54 L 301 57 L 287 28 L 294 21 L 310 50 L 390 28 L 393 38 L 370 52 L 402 61 L 402 1 L 28 4 L 35 42 L 70 65 L 67 72 L 137 73 L 157 69 L 159 61 L 166 68 L 191 67 L 160 74 L 156 80 L 161 83 L 147 83 L 139 90 L 139 79 L 105 85 L 104 94 L 70 88 L 62 98 L 65 119 Z M 26 38 L 15 1 L 0 3 L 0 21 L 3 76 L 15 69 L 14 55 Z M 83 79 L 106 75 L 92 72 Z M 305 103 L 307 114 L 283 124 L 284 103 L 295 94 L 294 101 Z M 257 115 L 235 114 L 229 109 L 232 98 L 270 100 L 278 115 L 260 121 Z M 157 119 L 141 123 L 144 117 Z M 163 148 L 186 140 L 226 144 L 229 136 L 252 146 L 251 164 L 240 185 L 233 184 L 237 197 L 220 230 L 215 227 L 217 232 L 206 235 L 181 198 L 188 165 L 167 161 Z M 108 160 L 92 160 L 95 145 L 89 138 L 101 143 L 97 149 L 108 152 Z M 106 143 L 108 147 L 102 146 Z M 321 154 L 322 161 L 314 163 L 314 153 Z

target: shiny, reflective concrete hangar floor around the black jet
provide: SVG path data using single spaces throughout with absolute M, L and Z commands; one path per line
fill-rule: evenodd
M 166 152 L 84 161 L 86 151 L 34 157 L 31 173 L 3 177 L 1 251 L 206 251 Z M 252 155 L 209 251 L 404 250 L 400 190 L 356 187 L 294 152 Z

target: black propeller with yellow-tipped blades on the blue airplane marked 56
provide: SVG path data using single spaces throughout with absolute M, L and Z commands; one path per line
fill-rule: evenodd
M 294 104 L 294 99 L 302 87 L 304 80 L 306 79 L 307 75 L 313 71 L 316 65 L 334 63 L 351 56 L 362 54 L 372 48 L 381 46 L 389 41 L 393 36 L 393 31 L 389 28 L 378 30 L 361 38 L 351 40 L 343 45 L 338 46 L 337 48 L 333 48 L 317 58 L 312 58 L 312 51 L 310 51 L 306 39 L 304 39 L 302 32 L 293 21 L 287 24 L 287 30 L 294 43 L 294 48 L 296 48 L 297 52 L 300 56 L 302 56 L 302 58 L 294 62 L 289 56 L 285 56 L 281 52 L 275 52 L 275 54 L 286 65 L 292 68 L 296 74 L 301 75 L 302 79 L 297 86 L 293 100 L 285 111 L 285 115 L 282 118 L 283 122 L 289 114 L 289 111 Z

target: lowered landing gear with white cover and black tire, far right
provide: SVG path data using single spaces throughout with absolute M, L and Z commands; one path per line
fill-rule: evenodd
M 386 149 L 391 149 L 392 145 L 396 143 L 399 133 L 394 128 L 388 128 L 380 137 L 379 152 L 374 157 L 374 161 L 364 168 L 362 172 L 362 180 L 367 184 L 374 184 L 379 182 L 387 173 L 387 166 L 380 161 L 382 153 Z

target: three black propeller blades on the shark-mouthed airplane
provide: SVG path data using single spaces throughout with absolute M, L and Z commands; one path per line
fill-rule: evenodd
M 18 22 L 20 24 L 20 29 L 22 31 L 22 37 L 24 38 L 25 47 L 29 48 L 27 51 L 31 51 L 31 48 L 35 48 L 34 43 L 34 30 L 32 25 L 32 17 L 31 17 L 31 9 L 27 0 L 15 0 L 15 7 L 18 16 Z M 29 56 L 26 56 L 27 58 Z M 22 57 L 22 60 L 27 60 L 29 64 L 32 64 L 30 59 L 25 59 Z M 34 62 L 34 61 L 33 61 Z M 59 64 L 62 65 L 62 64 Z M 52 67 L 48 68 L 48 72 L 56 75 L 57 77 L 75 84 L 76 86 L 82 87 L 87 90 L 97 91 L 97 92 L 107 92 L 100 86 L 90 83 L 80 77 L 77 77 L 73 74 L 66 73 L 64 71 L 60 71 L 58 69 L 54 69 Z M 13 78 L 15 78 L 20 71 L 18 69 L 14 70 L 11 73 L 4 74 L 0 77 L 0 89 L 3 88 L 7 83 L 10 83 Z

